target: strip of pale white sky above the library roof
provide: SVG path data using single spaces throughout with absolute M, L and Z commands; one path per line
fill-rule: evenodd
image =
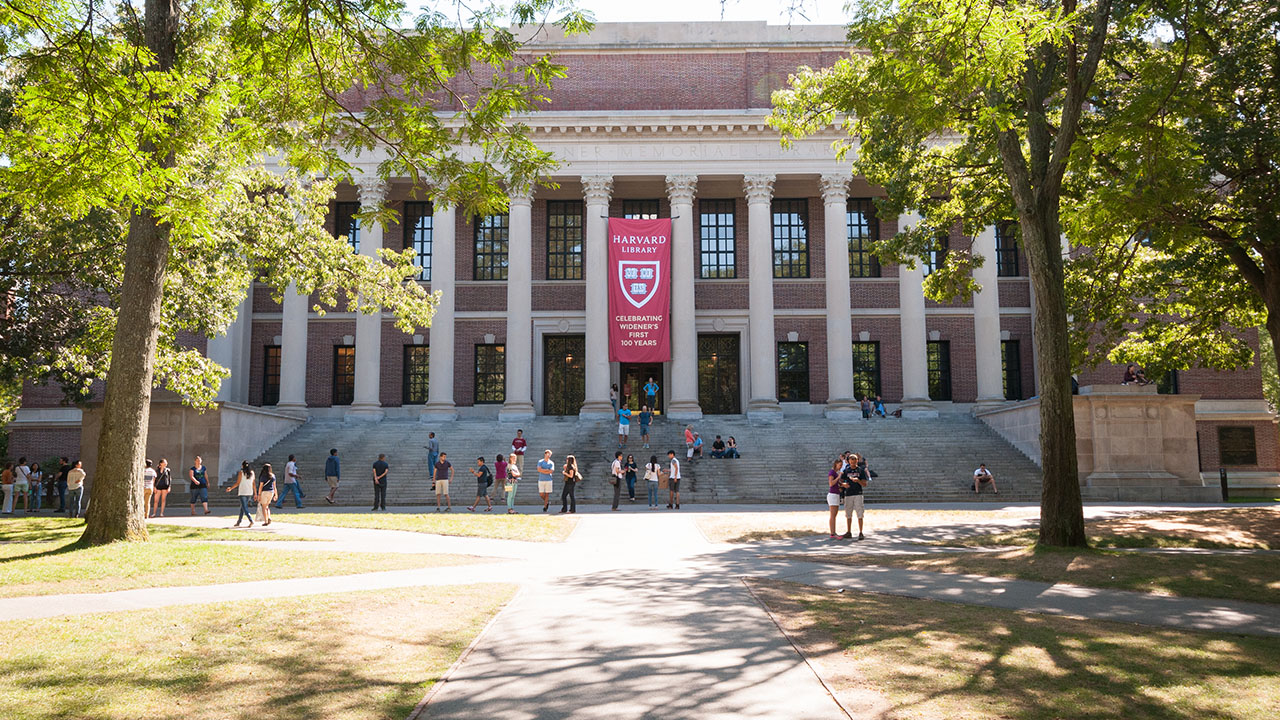
M 801 0 L 808 17 L 792 15 L 792 24 L 845 24 L 846 0 Z M 577 0 L 580 8 L 595 13 L 600 23 L 617 22 L 699 22 L 699 20 L 765 20 L 787 24 L 791 0 Z

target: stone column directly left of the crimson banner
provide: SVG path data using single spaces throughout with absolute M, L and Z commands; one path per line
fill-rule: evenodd
M 612 419 L 609 404 L 609 195 L 613 178 L 582 176 L 586 200 L 586 397 L 579 418 Z

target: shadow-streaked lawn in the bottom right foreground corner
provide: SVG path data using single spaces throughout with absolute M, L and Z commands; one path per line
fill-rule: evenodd
M 751 582 L 855 717 L 1271 720 L 1280 643 Z

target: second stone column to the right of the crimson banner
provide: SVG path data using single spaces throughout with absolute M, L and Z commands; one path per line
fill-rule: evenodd
M 746 416 L 758 423 L 782 421 L 778 405 L 777 343 L 773 340 L 773 176 L 742 178 L 746 193 L 746 237 L 750 249 L 748 292 L 751 320 L 751 400 Z

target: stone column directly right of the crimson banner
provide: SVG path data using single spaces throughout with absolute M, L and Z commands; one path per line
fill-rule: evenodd
M 694 195 L 698 176 L 667 176 L 671 199 L 671 400 L 673 420 L 700 420 L 698 328 L 694 324 Z

